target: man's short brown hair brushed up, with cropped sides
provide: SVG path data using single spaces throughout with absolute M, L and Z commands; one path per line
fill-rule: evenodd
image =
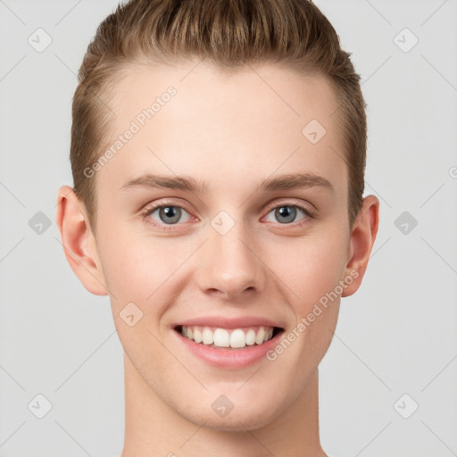
M 71 170 L 74 190 L 96 226 L 95 179 L 84 170 L 103 154 L 112 112 L 109 96 L 131 64 L 198 57 L 221 71 L 278 62 L 299 74 L 322 75 L 337 94 L 337 124 L 348 169 L 350 227 L 361 209 L 367 120 L 351 53 L 309 0 L 130 0 L 99 25 L 79 68 L 73 97 Z M 304 126 L 303 126 L 304 127 Z

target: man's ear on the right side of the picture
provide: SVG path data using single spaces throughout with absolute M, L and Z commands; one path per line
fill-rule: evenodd
M 345 287 L 341 296 L 353 295 L 361 286 L 361 279 L 367 270 L 371 248 L 378 233 L 378 225 L 379 200 L 375 195 L 368 195 L 363 199 L 361 211 L 354 220 L 349 242 L 345 278 L 352 277 L 353 282 Z

